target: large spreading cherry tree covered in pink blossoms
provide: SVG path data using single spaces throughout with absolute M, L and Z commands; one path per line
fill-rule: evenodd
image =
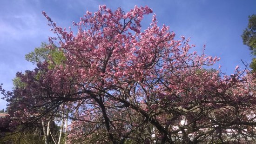
M 24 87 L 5 92 L 9 113 L 20 121 L 68 118 L 69 143 L 224 143 L 253 141 L 256 127 L 255 74 L 227 76 L 207 70 L 219 58 L 193 52 L 195 45 L 168 26 L 141 31 L 149 7 L 125 13 L 105 5 L 61 28 L 45 12 L 56 37 L 52 54 L 17 77 Z M 50 66 L 49 66 L 50 65 Z M 13 109 L 13 110 L 12 110 Z M 68 111 L 68 112 L 65 112 Z

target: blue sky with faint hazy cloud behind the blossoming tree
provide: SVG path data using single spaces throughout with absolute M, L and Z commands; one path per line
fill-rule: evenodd
M 195 44 L 198 52 L 206 44 L 207 55 L 221 58 L 214 67 L 222 65 L 222 72 L 228 75 L 236 65 L 243 69 L 241 59 L 248 64 L 252 59 L 241 34 L 247 27 L 248 16 L 256 14 L 256 0 L 1 0 L 0 83 L 3 87 L 11 90 L 16 72 L 34 68 L 25 60 L 25 54 L 53 36 L 42 10 L 58 26 L 68 27 L 73 21 L 78 22 L 87 10 L 95 12 L 103 4 L 113 11 L 121 7 L 126 12 L 135 5 L 148 5 L 156 13 L 159 25 L 170 26 L 176 39 L 181 35 L 191 37 L 190 44 Z M 149 26 L 151 19 L 152 14 L 145 17 L 142 30 Z M 0 100 L 0 109 L 3 108 L 6 102 Z

